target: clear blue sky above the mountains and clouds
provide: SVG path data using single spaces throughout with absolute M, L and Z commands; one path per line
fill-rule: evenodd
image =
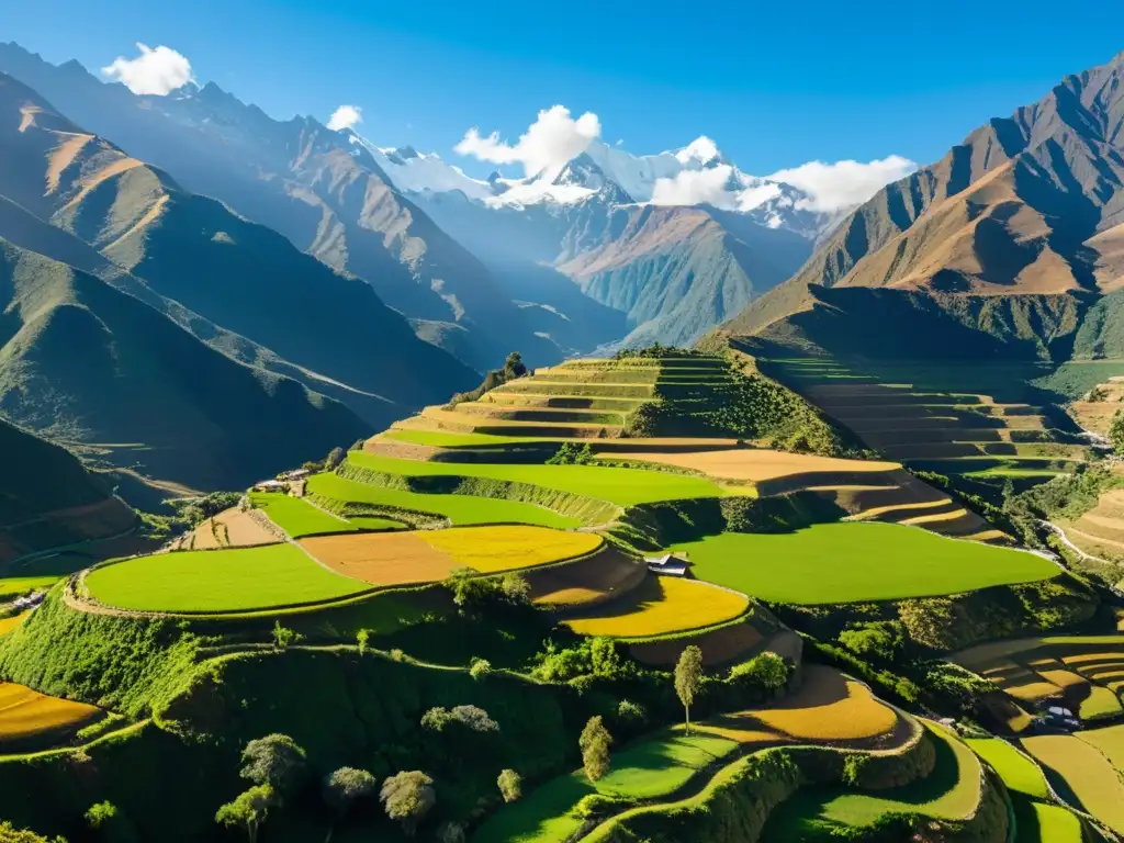
M 166 45 L 275 117 L 363 109 L 381 145 L 515 139 L 555 103 L 634 153 L 714 138 L 743 170 L 926 163 L 990 116 L 1124 49 L 1107 3 L 949 0 L 6 0 L 0 39 L 96 71 Z M 1064 13 L 1059 13 L 1063 9 Z

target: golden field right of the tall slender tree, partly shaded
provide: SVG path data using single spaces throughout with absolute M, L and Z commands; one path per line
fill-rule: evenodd
M 803 741 L 874 738 L 897 727 L 897 713 L 874 699 L 867 686 L 822 664 L 806 664 L 804 671 L 800 690 L 746 717 Z

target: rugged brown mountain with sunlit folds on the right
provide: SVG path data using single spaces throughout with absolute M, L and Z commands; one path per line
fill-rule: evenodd
M 845 333 L 840 308 L 861 310 L 845 303 L 860 294 L 845 292 L 855 288 L 891 291 L 883 300 L 912 294 L 969 321 L 972 312 L 1018 308 L 998 303 L 1013 297 L 1067 297 L 1084 311 L 1124 278 L 1122 76 L 1124 54 L 1067 76 L 1042 100 L 990 120 L 941 161 L 887 185 L 727 327 L 781 336 L 799 323 L 813 341 L 828 325 Z M 989 329 L 987 319 L 976 321 Z M 1048 325 L 1027 327 L 1049 343 Z M 1067 346 L 1041 353 L 1064 355 Z

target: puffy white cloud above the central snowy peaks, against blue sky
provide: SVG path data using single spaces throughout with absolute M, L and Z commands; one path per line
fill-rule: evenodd
M 561 170 L 600 134 L 597 115 L 587 111 L 575 120 L 565 106 L 552 106 L 538 112 L 538 118 L 514 145 L 500 140 L 498 132 L 486 137 L 473 127 L 454 149 L 495 164 L 522 164 L 527 175 L 537 175 L 544 170 Z

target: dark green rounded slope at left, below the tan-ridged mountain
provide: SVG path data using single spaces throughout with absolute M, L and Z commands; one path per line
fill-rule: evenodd
M 139 299 L 3 241 L 0 311 L 0 413 L 115 465 L 236 488 L 368 429 Z

